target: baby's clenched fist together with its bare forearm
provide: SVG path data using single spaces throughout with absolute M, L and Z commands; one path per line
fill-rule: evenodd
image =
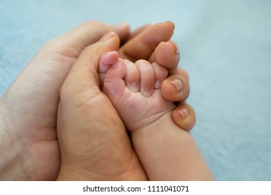
M 117 52 L 101 56 L 104 93 L 120 114 L 149 180 L 213 180 L 191 134 L 172 120 L 174 102 L 161 94 L 167 69 L 145 60 L 132 63 Z

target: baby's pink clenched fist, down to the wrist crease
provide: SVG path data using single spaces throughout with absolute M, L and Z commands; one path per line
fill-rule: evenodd
M 104 93 L 130 131 L 154 123 L 175 107 L 161 95 L 167 69 L 158 63 L 132 63 L 120 59 L 117 52 L 107 52 L 101 56 L 99 75 Z

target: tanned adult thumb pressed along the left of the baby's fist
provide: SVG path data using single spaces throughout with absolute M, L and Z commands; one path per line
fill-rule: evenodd
M 120 38 L 113 31 L 106 33 L 98 42 L 85 47 L 65 79 L 60 96 L 63 94 L 71 98 L 74 94 L 84 91 L 91 91 L 90 96 L 100 93 L 99 59 L 105 52 L 116 51 L 119 47 Z

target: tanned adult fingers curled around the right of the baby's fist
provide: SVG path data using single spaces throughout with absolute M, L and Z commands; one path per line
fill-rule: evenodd
M 185 102 L 190 93 L 189 78 L 185 70 L 177 68 L 180 54 L 177 45 L 170 40 L 173 31 L 172 22 L 142 26 L 132 33 L 131 40 L 120 48 L 119 53 L 122 59 L 156 61 L 169 70 L 170 77 L 163 81 L 162 94 L 166 100 L 176 102 L 177 107 L 172 111 L 176 125 L 190 131 L 195 125 L 195 111 Z

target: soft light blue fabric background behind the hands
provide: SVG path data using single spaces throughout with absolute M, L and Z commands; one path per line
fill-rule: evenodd
M 192 131 L 216 180 L 271 180 L 271 1 L 0 1 L 0 96 L 45 42 L 86 20 L 170 20 Z

